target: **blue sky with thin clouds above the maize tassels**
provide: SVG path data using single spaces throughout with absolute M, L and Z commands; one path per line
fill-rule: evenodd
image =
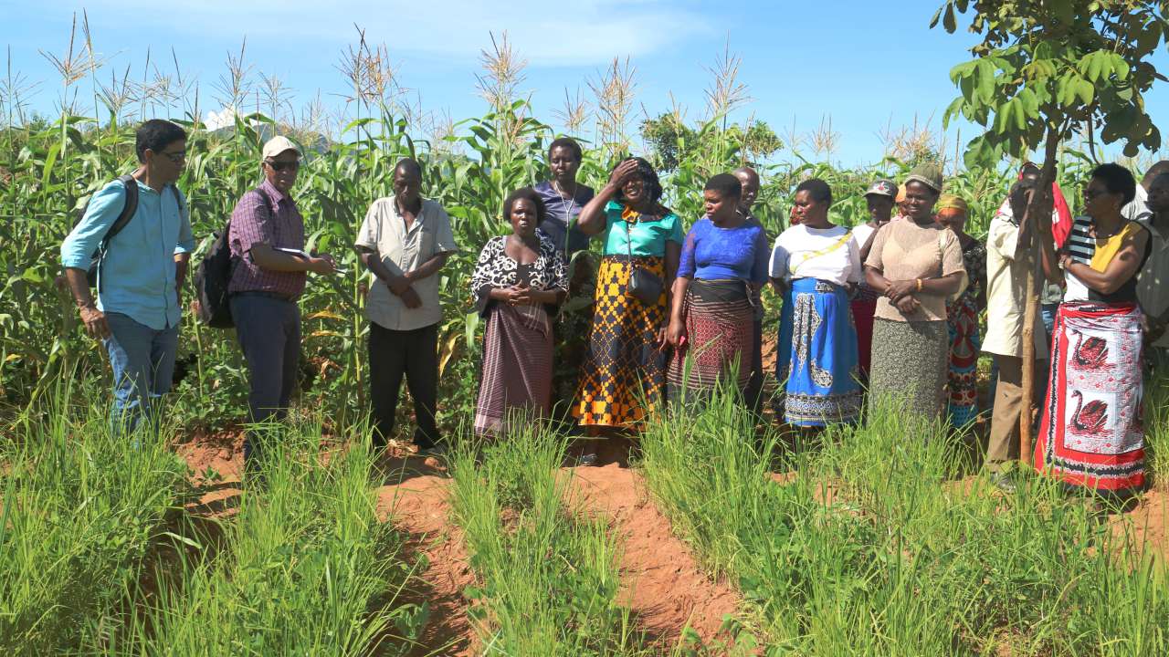
M 99 79 L 144 74 L 147 49 L 164 74 L 174 69 L 200 87 L 203 110 L 224 74 L 228 53 L 247 37 L 245 63 L 254 74 L 278 76 L 292 89 L 293 108 L 317 95 L 326 105 L 341 103 L 345 79 L 337 64 L 355 43 L 354 23 L 371 43 L 385 43 L 397 81 L 421 99 L 424 112 L 457 119 L 483 113 L 476 95 L 478 57 L 491 44 L 489 33 L 506 30 L 527 61 L 519 89 L 531 94 L 535 113 L 547 123 L 565 90 L 590 98 L 588 81 L 613 57 L 629 57 L 637 97 L 634 122 L 667 111 L 671 97 L 687 116 L 704 112 L 704 90 L 729 41 L 741 57 L 739 81 L 753 101 L 739 116 L 766 120 L 781 137 L 807 134 L 826 119 L 838 134 L 833 161 L 845 165 L 880 159 L 880 134 L 928 122 L 947 152 L 957 130 L 941 136 L 941 113 L 956 95 L 950 67 L 969 57 L 973 36 L 929 29 L 941 0 L 879 4 L 859 0 L 823 2 L 546 0 L 487 2 L 454 0 L 94 0 L 30 4 L 0 0 L 0 44 L 11 64 L 29 82 L 29 108 L 51 113 L 60 77 L 41 50 L 63 55 L 76 12 L 88 11 L 96 50 L 105 58 Z M 877 9 L 877 7 L 880 7 Z M 1169 70 L 1169 54 L 1154 62 Z M 258 81 L 258 78 L 257 78 Z M 89 83 L 82 84 L 91 103 Z M 1169 84 L 1147 98 L 1154 118 L 1169 108 Z M 85 104 L 83 104 L 83 108 Z M 206 117 L 206 111 L 202 112 Z M 974 127 L 961 129 L 961 139 Z M 1169 123 L 1162 125 L 1169 134 Z M 803 147 L 803 151 L 810 151 Z M 810 153 L 809 153 L 810 154 Z M 782 154 L 781 154 L 782 157 Z

